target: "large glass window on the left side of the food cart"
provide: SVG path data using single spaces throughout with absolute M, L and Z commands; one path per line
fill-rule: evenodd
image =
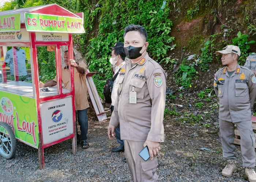
M 33 97 L 29 47 L 0 47 L 0 90 Z

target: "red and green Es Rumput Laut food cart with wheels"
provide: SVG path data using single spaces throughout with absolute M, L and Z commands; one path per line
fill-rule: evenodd
M 72 67 L 69 69 L 71 89 L 62 88 L 61 83 L 60 47 L 67 46 L 69 58 L 73 58 L 72 33 L 84 33 L 83 13 L 72 13 L 57 4 L 0 12 L 2 157 L 14 156 L 16 140 L 38 149 L 40 169 L 44 168 L 46 147 L 72 138 L 72 152 L 76 154 Z M 38 54 L 43 54 L 40 50 L 46 47 L 55 54 L 57 87 L 42 90 Z M 47 64 L 47 59 L 42 63 Z M 20 70 L 22 65 L 26 70 Z

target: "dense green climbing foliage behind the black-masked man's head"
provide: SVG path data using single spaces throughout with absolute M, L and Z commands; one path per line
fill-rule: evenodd
M 171 62 L 167 52 L 176 46 L 172 44 L 174 37 L 169 35 L 173 25 L 169 19 L 171 1 L 167 0 L 166 4 L 162 0 L 78 1 L 76 7 L 77 11 L 84 12 L 86 33 L 75 36 L 74 43 L 86 55 L 89 70 L 102 75 L 94 77 L 99 93 L 105 81 L 98 79 L 111 77 L 109 48 L 117 41 L 123 42 L 124 28 L 129 24 L 139 24 L 146 29 L 149 42 L 147 51 L 151 58 L 165 64 Z

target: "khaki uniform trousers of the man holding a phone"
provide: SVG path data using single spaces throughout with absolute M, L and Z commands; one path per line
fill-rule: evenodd
M 158 178 L 156 173 L 158 166 L 157 157 L 144 161 L 139 156 L 139 152 L 144 148 L 144 143 L 124 141 L 125 158 L 132 174 L 133 182 L 155 182 Z

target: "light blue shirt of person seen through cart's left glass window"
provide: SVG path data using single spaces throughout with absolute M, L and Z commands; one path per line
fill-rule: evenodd
M 15 70 L 16 76 L 26 76 L 27 70 L 26 70 L 26 52 L 21 49 L 20 47 L 14 47 L 15 51 L 14 54 L 16 54 L 17 57 L 17 68 L 18 70 Z M 5 63 L 9 64 L 11 75 L 14 75 L 14 63 L 13 63 L 13 52 L 12 49 L 6 52 L 5 56 Z M 16 68 L 16 67 L 15 67 Z

